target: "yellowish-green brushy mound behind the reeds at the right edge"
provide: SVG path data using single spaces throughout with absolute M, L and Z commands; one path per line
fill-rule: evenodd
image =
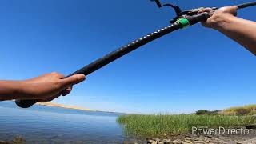
M 238 106 L 231 107 L 226 110 L 222 110 L 220 114 L 223 115 L 255 115 L 256 114 L 256 105 L 247 105 L 247 106 Z

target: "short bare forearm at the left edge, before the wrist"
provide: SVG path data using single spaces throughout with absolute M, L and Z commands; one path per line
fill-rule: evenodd
M 22 81 L 0 81 L 0 101 L 23 99 Z

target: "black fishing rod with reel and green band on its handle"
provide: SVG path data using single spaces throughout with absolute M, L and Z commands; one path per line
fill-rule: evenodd
M 138 49 L 141 46 L 146 45 L 149 42 L 154 41 L 155 39 L 161 38 L 166 34 L 170 34 L 175 30 L 179 30 L 185 28 L 187 26 L 193 26 L 194 24 L 202 21 L 206 21 L 210 18 L 209 12 L 203 12 L 202 14 L 198 14 L 199 10 L 203 10 L 203 7 L 192 10 L 182 11 L 179 6 L 175 6 L 172 4 L 163 4 L 159 0 L 150 0 L 152 2 L 156 2 L 159 8 L 164 6 L 169 6 L 171 9 L 174 9 L 176 13 L 176 17 L 170 21 L 170 25 L 166 26 L 160 30 L 157 30 L 153 33 L 147 34 L 142 38 L 138 38 L 133 42 L 128 43 L 126 46 L 122 46 L 121 48 L 114 50 L 110 54 L 106 54 L 104 57 L 99 58 L 98 60 L 91 62 L 89 65 L 84 66 L 82 69 L 75 71 L 74 73 L 68 75 L 70 77 L 74 74 L 85 74 L 89 75 L 94 71 L 106 66 L 110 62 L 114 62 L 116 59 L 121 58 L 122 56 L 130 53 L 133 50 Z M 256 2 L 248 2 L 243 3 L 241 5 L 237 5 L 238 9 L 243 9 L 250 6 L 256 6 Z M 217 7 L 212 7 L 212 10 L 218 10 Z M 66 78 L 67 78 L 66 77 Z M 16 100 L 16 104 L 22 108 L 29 108 L 33 106 L 38 100 Z

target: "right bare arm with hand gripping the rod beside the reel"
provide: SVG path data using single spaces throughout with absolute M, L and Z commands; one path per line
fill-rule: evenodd
M 235 17 L 237 10 L 236 6 L 222 7 L 202 25 L 220 31 L 256 55 L 256 22 Z

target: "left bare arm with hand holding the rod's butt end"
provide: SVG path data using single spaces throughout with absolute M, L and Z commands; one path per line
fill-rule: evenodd
M 24 81 L 0 81 L 0 101 L 38 99 L 47 102 L 69 94 L 73 85 L 85 80 L 83 74 L 62 78 L 62 74 L 50 73 Z

